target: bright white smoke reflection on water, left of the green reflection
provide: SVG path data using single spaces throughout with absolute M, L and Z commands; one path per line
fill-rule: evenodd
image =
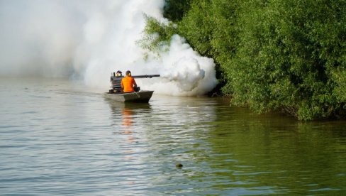
M 150 182 L 148 190 L 175 192 L 181 186 L 194 187 L 194 180 L 188 183 L 186 177 L 196 173 L 194 162 L 208 154 L 203 137 L 208 136 L 207 123 L 215 119 L 215 102 L 196 100 L 165 97 L 146 105 L 110 103 L 113 121 L 116 124 L 121 119 L 123 124 L 116 133 L 123 136 L 125 131 L 135 138 L 132 145 L 127 143 L 122 148 L 131 148 L 133 159 L 143 164 L 143 176 Z M 133 164 L 131 161 L 125 164 Z M 176 168 L 176 163 L 184 168 Z M 138 180 L 133 181 L 138 185 Z

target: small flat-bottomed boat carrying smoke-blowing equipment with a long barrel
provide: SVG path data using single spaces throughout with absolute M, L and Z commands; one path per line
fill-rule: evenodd
M 160 77 L 160 75 L 133 75 L 135 78 L 152 78 Z M 111 89 L 109 92 L 105 92 L 105 97 L 107 99 L 112 99 L 117 102 L 140 102 L 147 103 L 152 97 L 154 91 L 151 90 L 140 90 L 140 87 L 135 87 L 135 92 L 122 92 L 120 83 L 123 76 L 116 76 L 113 72 L 111 76 Z

